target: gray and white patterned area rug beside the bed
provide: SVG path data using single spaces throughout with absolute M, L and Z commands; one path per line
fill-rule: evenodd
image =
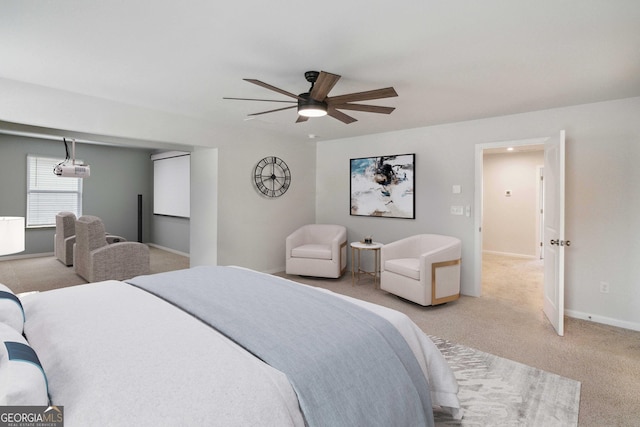
M 462 420 L 435 411 L 436 426 L 577 426 L 580 382 L 430 337 L 453 369 Z

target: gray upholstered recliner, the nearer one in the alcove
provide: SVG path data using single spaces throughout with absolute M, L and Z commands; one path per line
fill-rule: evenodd
M 107 242 L 102 220 L 84 215 L 76 220 L 74 268 L 88 282 L 125 280 L 149 274 L 149 248 L 138 242 Z

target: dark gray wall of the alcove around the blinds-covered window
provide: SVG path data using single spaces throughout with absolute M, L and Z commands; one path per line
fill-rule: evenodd
M 62 138 L 50 140 L 0 134 L 2 216 L 26 216 L 28 154 L 63 160 Z M 76 158 L 91 165 L 91 176 L 83 182 L 83 214 L 99 216 L 107 232 L 136 241 L 138 194 L 142 194 L 142 237 L 148 242 L 153 194 L 150 154 L 147 149 L 77 143 Z M 54 233 L 55 227 L 27 229 L 25 251 L 17 255 L 53 252 Z

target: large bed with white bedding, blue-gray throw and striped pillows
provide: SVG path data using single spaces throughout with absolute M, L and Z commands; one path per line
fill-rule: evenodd
M 280 277 L 195 267 L 2 295 L 21 307 L 11 326 L 0 318 L 0 335 L 20 342 L 23 332 L 22 354 L 33 352 L 23 357 L 32 363 L 8 365 L 8 389 L 23 390 L 9 400 L 1 390 L 4 402 L 63 406 L 66 426 L 433 425 L 434 408 L 462 416 L 451 369 L 406 315 Z

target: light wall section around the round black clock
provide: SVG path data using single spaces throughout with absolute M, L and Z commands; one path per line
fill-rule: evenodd
M 283 271 L 286 236 L 315 222 L 315 143 L 262 138 L 221 148 L 219 156 L 218 264 Z M 253 183 L 266 156 L 282 158 L 291 170 L 291 186 L 277 198 Z

